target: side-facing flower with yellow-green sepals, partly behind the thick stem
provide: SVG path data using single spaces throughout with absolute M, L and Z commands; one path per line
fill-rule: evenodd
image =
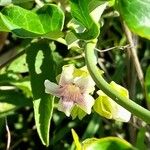
M 113 81 L 110 83 L 110 86 L 119 94 L 127 98 L 129 97 L 128 91 L 124 87 L 116 84 Z M 114 119 L 116 121 L 128 122 L 130 120 L 131 113 L 129 111 L 118 105 L 101 90 L 97 91 L 97 94 L 99 97 L 96 99 L 93 108 L 98 114 L 106 117 L 107 119 Z

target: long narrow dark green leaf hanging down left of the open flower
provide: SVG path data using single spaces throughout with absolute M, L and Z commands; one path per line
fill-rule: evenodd
M 27 49 L 27 63 L 31 77 L 35 123 L 42 143 L 49 145 L 53 96 L 45 93 L 44 81 L 55 79 L 55 66 L 49 43 L 33 43 Z

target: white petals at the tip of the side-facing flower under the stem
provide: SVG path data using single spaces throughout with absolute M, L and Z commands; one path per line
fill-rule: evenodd
M 131 113 L 122 106 L 117 105 L 117 112 L 114 112 L 113 118 L 117 121 L 128 122 L 131 118 Z

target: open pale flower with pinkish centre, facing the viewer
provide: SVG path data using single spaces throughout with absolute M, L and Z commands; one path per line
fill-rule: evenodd
M 58 110 L 70 116 L 75 105 L 87 114 L 91 113 L 94 98 L 89 94 L 94 91 L 95 83 L 86 67 L 76 69 L 74 65 L 63 67 L 59 84 L 45 80 L 45 92 L 60 98 Z

